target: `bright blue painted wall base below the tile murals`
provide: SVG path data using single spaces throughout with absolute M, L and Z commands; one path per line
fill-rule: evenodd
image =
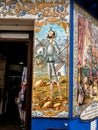
M 98 119 L 97 124 L 98 124 Z M 65 124 L 68 126 L 65 126 Z M 47 128 L 62 128 L 65 130 L 91 130 L 91 121 L 83 122 L 80 118 L 75 119 L 45 119 L 45 118 L 32 118 L 31 119 L 32 129 L 31 130 L 47 130 Z M 98 125 L 97 125 L 98 126 Z M 97 129 L 98 130 L 98 127 Z

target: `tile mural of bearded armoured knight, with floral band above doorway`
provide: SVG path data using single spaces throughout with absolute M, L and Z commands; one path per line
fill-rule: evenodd
M 32 117 L 68 118 L 70 1 L 1 0 L 0 17 L 35 20 Z

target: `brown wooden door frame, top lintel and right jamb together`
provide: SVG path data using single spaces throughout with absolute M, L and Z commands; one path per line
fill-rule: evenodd
M 27 90 L 26 90 L 26 129 L 31 129 L 31 103 L 32 103 L 32 65 L 33 65 L 33 36 L 34 19 L 22 18 L 0 18 L 0 32 L 28 32 L 29 39 L 22 39 L 28 42 L 27 51 Z M 1 39 L 0 41 L 13 41 L 15 39 Z M 21 41 L 16 39 L 15 41 Z

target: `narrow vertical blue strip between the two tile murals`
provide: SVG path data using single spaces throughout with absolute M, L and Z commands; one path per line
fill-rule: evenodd
M 69 90 L 69 117 L 72 118 L 73 115 L 73 7 L 74 0 L 70 0 L 70 70 L 69 70 L 69 77 L 70 77 L 70 90 Z

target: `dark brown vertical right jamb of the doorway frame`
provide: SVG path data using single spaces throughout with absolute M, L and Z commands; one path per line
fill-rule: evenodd
M 26 91 L 26 130 L 31 129 L 32 108 L 32 64 L 33 64 L 33 32 L 29 32 L 28 56 L 27 56 L 27 91 Z

